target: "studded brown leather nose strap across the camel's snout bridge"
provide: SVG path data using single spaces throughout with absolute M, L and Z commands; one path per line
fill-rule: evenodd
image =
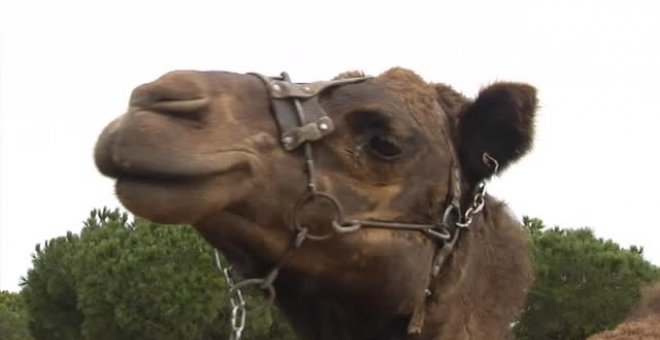
M 313 83 L 292 83 L 282 72 L 277 78 L 249 73 L 261 79 L 270 96 L 273 114 L 280 129 L 280 141 L 287 151 L 305 142 L 319 140 L 334 131 L 334 122 L 321 107 L 318 95 L 330 87 L 362 82 L 368 77 Z

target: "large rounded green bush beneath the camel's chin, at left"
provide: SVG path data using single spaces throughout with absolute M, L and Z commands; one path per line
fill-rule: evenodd
M 33 267 L 22 294 L 38 339 L 228 338 L 227 286 L 192 228 L 94 210 L 79 236 L 37 246 Z M 293 339 L 287 327 L 265 311 L 245 336 Z

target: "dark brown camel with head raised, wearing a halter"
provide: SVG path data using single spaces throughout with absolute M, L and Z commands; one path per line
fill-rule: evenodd
M 470 99 L 398 67 L 173 71 L 133 90 L 95 162 L 128 210 L 265 277 L 301 339 L 503 339 L 528 238 L 483 183 L 530 150 L 536 107 L 528 84 Z

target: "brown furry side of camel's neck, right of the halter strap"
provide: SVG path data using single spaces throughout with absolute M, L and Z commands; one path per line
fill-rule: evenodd
M 532 281 L 527 238 L 492 198 L 481 218 L 437 283 L 430 314 L 442 315 L 435 324 L 441 330 L 429 339 L 505 339 L 505 325 L 519 315 Z

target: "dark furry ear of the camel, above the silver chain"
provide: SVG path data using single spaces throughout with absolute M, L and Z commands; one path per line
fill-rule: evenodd
M 458 149 L 465 175 L 479 181 L 522 157 L 532 146 L 536 89 L 495 83 L 479 92 L 459 116 Z M 486 154 L 487 156 L 484 156 Z

